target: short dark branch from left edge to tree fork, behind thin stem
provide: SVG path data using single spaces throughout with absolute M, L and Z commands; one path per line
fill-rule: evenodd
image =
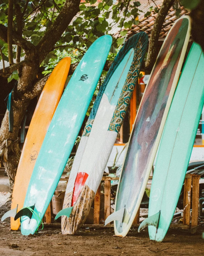
M 1 23 L 0 23 L 0 39 L 3 40 L 5 43 L 7 43 L 7 28 Z M 22 49 L 25 50 L 25 53 L 30 50 L 34 50 L 35 48 L 31 42 L 19 36 L 15 31 L 12 31 L 12 39 L 13 39 L 12 44 L 17 44 L 20 47 L 22 47 Z

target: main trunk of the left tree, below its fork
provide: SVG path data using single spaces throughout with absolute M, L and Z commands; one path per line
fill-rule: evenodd
M 5 167 L 6 173 L 9 177 L 11 185 L 11 192 L 14 186 L 14 179 L 16 175 L 17 166 L 20 159 L 20 148 L 18 143 L 18 132 L 20 129 L 21 121 L 25 115 L 26 108 L 29 105 L 31 98 L 26 97 L 26 93 L 29 90 L 29 84 L 36 79 L 38 62 L 32 62 L 32 67 L 25 66 L 23 68 L 22 76 L 19 79 L 17 86 L 16 101 L 13 98 L 12 93 L 12 108 L 14 111 L 14 127 L 13 132 L 9 132 L 9 112 L 6 110 L 4 119 L 2 120 L 0 128 L 0 145 L 4 145 L 4 149 L 7 148 L 7 159 L 2 157 L 2 162 Z M 7 142 L 7 143 L 6 143 Z

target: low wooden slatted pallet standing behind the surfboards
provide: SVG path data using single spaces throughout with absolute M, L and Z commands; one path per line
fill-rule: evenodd
M 152 179 L 152 176 L 149 177 Z M 170 228 L 181 228 L 190 230 L 191 233 L 195 233 L 198 230 L 198 212 L 199 212 L 199 179 L 200 175 L 188 174 L 185 176 L 184 182 L 184 212 L 183 212 L 183 224 L 171 224 Z M 61 178 L 61 181 L 68 181 L 68 178 Z M 104 181 L 104 218 L 106 219 L 111 212 L 111 180 L 119 180 L 119 177 L 102 177 L 101 181 Z M 101 184 L 94 199 L 94 214 L 93 224 L 84 224 L 82 227 L 90 228 L 104 228 L 104 225 L 100 223 L 100 196 L 101 196 Z M 192 199 L 192 217 L 190 223 L 190 202 Z M 140 209 L 133 222 L 133 227 L 139 226 Z M 52 223 L 51 220 L 51 203 L 45 213 L 46 223 L 45 226 L 49 227 L 61 227 L 60 223 Z M 113 224 L 106 226 L 107 228 L 113 227 Z

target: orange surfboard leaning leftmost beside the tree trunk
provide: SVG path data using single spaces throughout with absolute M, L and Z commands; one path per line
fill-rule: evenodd
M 71 58 L 63 58 L 52 71 L 35 108 L 34 115 L 27 132 L 16 172 L 11 209 L 17 212 L 24 206 L 27 188 L 35 166 L 45 134 L 63 93 Z M 17 230 L 20 219 L 11 217 L 11 230 Z

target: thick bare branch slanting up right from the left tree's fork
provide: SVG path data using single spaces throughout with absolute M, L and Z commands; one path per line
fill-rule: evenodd
M 53 45 L 60 39 L 72 18 L 77 14 L 79 5 L 80 0 L 66 0 L 56 20 L 50 28 L 47 29 L 45 35 L 36 46 L 37 52 L 40 55 L 40 63 L 44 60 L 45 56 L 51 52 Z M 55 36 L 53 37 L 53 35 Z

